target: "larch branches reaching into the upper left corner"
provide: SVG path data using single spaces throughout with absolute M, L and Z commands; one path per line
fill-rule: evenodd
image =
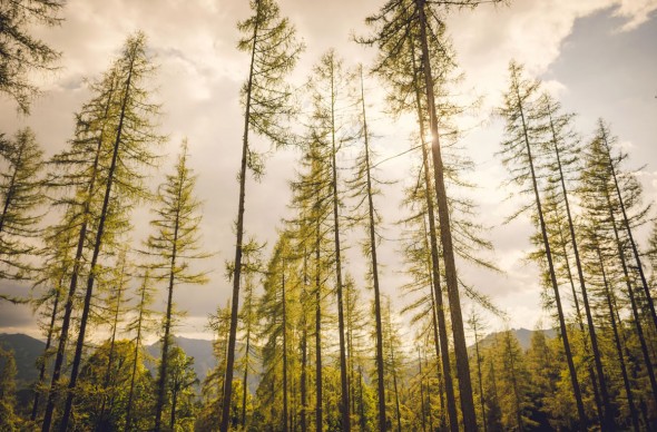
M 9 95 L 28 114 L 38 92 L 33 71 L 48 71 L 60 53 L 30 33 L 35 23 L 58 26 L 65 0 L 12 0 L 0 4 L 0 92 Z

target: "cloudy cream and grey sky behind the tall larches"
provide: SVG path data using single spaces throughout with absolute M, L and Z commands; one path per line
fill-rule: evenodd
M 296 27 L 306 46 L 291 76 L 295 85 L 306 80 L 313 65 L 334 48 L 345 66 L 362 62 L 367 67 L 373 48 L 353 42 L 353 35 L 369 35 L 364 19 L 379 10 L 382 0 L 280 0 L 281 12 Z M 479 220 L 489 226 L 494 252 L 489 255 L 503 273 L 471 268 L 458 262 L 468 283 L 488 295 L 509 316 L 511 327 L 549 325 L 541 310 L 538 271 L 526 259 L 532 227 L 527 218 L 510 224 L 503 220 L 513 210 L 506 199 L 513 190 L 502 187 L 507 178 L 496 151 L 502 139 L 502 121 L 493 116 L 507 84 L 511 59 L 523 63 L 529 73 L 543 80 L 559 97 L 563 108 L 578 114 L 578 131 L 592 135 L 602 117 L 630 154 L 630 168 L 644 185 L 645 200 L 657 197 L 657 0 L 516 0 L 508 6 L 481 6 L 454 11 L 448 19 L 461 71 L 462 91 L 482 97 L 480 108 L 463 119 L 469 131 L 460 145 L 474 160 L 469 179 L 478 185 L 471 197 L 479 205 Z M 30 126 L 47 156 L 66 147 L 73 130 L 73 112 L 89 98 L 87 80 L 106 70 L 127 36 L 143 30 L 159 65 L 153 84 L 154 100 L 163 104 L 159 130 L 169 139 L 161 167 L 153 173 L 155 186 L 170 170 L 180 140 L 189 143 L 190 165 L 198 175 L 197 195 L 204 202 L 203 245 L 215 255 L 202 266 L 212 271 L 204 286 L 179 286 L 175 297 L 187 316 L 178 334 L 212 337 L 205 328 L 207 315 L 225 305 L 231 284 L 224 277 L 224 263 L 234 254 L 236 217 L 236 174 L 241 157 L 243 112 L 239 88 L 248 68 L 247 55 L 236 49 L 238 20 L 249 14 L 245 0 L 69 0 L 57 28 L 35 27 L 33 33 L 61 51 L 60 68 L 35 79 L 42 95 L 33 102 L 30 116 L 17 112 L 16 104 L 0 95 L 0 130 L 12 135 Z M 373 79 L 367 87 L 380 100 L 384 89 Z M 475 125 L 475 126 L 472 126 Z M 373 111 L 374 146 L 380 160 L 405 151 L 412 124 Z M 246 232 L 269 248 L 277 236 L 280 220 L 288 215 L 288 181 L 294 176 L 298 154 L 283 150 L 269 157 L 261 183 L 249 180 L 246 196 Z M 384 220 L 381 245 L 382 289 L 393 298 L 404 283 L 403 261 L 395 246 L 400 237 L 395 222 L 402 189 L 413 181 L 410 156 L 382 163 L 380 176 L 395 184 L 386 187 L 379 206 Z M 138 243 L 148 235 L 148 209 L 134 216 Z M 645 244 L 645 232 L 639 233 Z M 363 286 L 365 262 L 355 245 L 359 233 L 346 234 L 352 248 L 346 267 Z M 0 282 L 3 293 L 24 293 L 24 286 Z M 161 306 L 161 298 L 159 300 Z M 403 300 L 399 301 L 403 304 Z M 465 314 L 470 302 L 463 298 Z M 501 323 L 488 317 L 491 330 Z M 546 324 L 548 323 L 548 324 Z M 37 336 L 35 317 L 28 307 L 0 303 L 0 332 L 21 332 Z

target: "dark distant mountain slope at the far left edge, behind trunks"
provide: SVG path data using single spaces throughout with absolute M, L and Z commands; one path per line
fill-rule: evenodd
M 16 359 L 16 385 L 24 389 L 39 377 L 37 359 L 43 354 L 46 343 L 24 334 L 0 334 L 0 345 L 13 351 Z

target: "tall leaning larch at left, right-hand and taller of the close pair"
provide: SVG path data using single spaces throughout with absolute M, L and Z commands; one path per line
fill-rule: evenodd
M 136 33 L 129 37 L 121 56 L 115 61 L 110 72 L 105 77 L 104 86 L 106 86 L 105 90 L 107 90 L 106 95 L 108 98 L 106 109 L 101 108 L 101 112 L 105 116 L 92 119 L 102 125 L 97 140 L 99 153 L 102 153 L 102 150 L 106 153 L 106 157 L 101 159 L 106 165 L 100 164 L 98 167 L 100 169 L 96 168 L 98 171 L 101 171 L 101 181 L 98 183 L 101 203 L 95 224 L 96 232 L 92 236 L 91 257 L 88 262 L 80 327 L 68 383 L 68 394 L 62 419 L 59 424 L 61 431 L 67 430 L 71 416 L 77 377 L 85 348 L 86 330 L 91 310 L 94 287 L 97 274 L 101 267 L 99 257 L 104 247 L 104 239 L 106 238 L 104 235 L 106 223 L 111 220 L 115 215 L 121 215 L 121 213 L 125 215 L 124 212 L 129 212 L 134 203 L 149 195 L 144 184 L 146 176 L 144 170 L 154 165 L 156 156 L 153 153 L 153 147 L 163 140 L 160 136 L 155 134 L 154 125 L 154 117 L 158 115 L 159 106 L 149 101 L 150 92 L 146 87 L 147 80 L 154 70 L 154 66 L 146 53 L 146 37 L 143 33 Z M 115 86 L 116 91 L 114 91 Z M 91 183 L 89 185 L 91 186 Z M 91 187 L 90 189 L 95 190 Z M 121 203 L 120 205 L 118 204 L 119 202 Z M 81 234 L 80 249 L 84 247 L 85 238 Z M 78 261 L 77 256 L 76 261 Z M 73 267 L 75 272 L 76 267 Z M 71 276 L 69 296 L 76 292 L 77 277 L 78 274 Z M 68 315 L 70 320 L 70 314 Z M 56 384 L 55 381 L 53 384 Z M 49 401 L 43 421 L 43 430 L 49 430 L 51 415 L 52 406 Z

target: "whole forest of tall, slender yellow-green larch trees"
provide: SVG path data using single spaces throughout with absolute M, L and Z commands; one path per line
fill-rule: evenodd
M 0 0 L 0 99 L 21 118 L 48 91 L 41 77 L 66 67 L 42 35 L 68 26 L 70 3 Z M 0 314 L 29 311 L 43 342 L 26 365 L 26 348 L 0 340 L 0 431 L 657 430 L 657 224 L 644 168 L 615 118 L 581 130 L 514 59 L 489 120 L 501 125 L 496 180 L 512 208 L 501 229 L 531 225 L 522 268 L 548 318 L 528 324 L 523 344 L 513 308 L 472 282 L 504 271 L 463 145 L 483 128 L 463 122 L 480 104 L 451 36 L 465 30 L 448 23 L 516 2 L 377 1 L 350 36 L 371 61 L 330 49 L 301 85 L 312 47 L 288 2 L 244 3 L 248 14 L 231 17 L 241 38 L 222 41 L 244 63 L 229 119 L 239 134 L 213 138 L 217 160 L 226 147 L 239 156 L 226 163 L 229 188 L 202 199 L 200 149 L 178 140 L 185 130 L 169 144 L 175 100 L 157 91 L 166 71 L 145 31 L 122 35 L 85 91 L 70 90 L 85 99 L 66 112 L 73 129 L 59 150 L 29 126 L 0 130 Z M 389 156 L 384 134 L 404 122 Z M 254 197 L 284 151 L 288 199 L 285 216 L 265 215 L 268 242 L 249 212 L 267 213 Z M 396 203 L 388 174 L 402 156 Z M 212 219 L 216 206 L 231 224 Z M 207 226 L 229 243 L 212 244 Z M 177 343 L 180 304 L 200 286 L 214 293 L 203 294 L 214 311 L 205 376 Z M 18 380 L 21 367 L 35 379 Z

